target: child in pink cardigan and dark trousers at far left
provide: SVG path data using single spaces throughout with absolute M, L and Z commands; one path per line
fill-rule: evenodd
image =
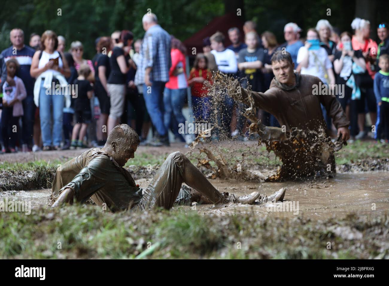
M 14 79 L 14 84 L 3 84 L 3 111 L 1 118 L 1 132 L 3 138 L 3 153 L 16 153 L 15 145 L 19 132 L 19 118 L 23 116 L 22 100 L 26 98 L 26 88 L 23 81 L 17 77 L 19 63 L 16 59 L 8 60 L 7 76 Z

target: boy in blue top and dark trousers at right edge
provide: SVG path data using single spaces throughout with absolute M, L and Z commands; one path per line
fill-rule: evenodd
M 389 139 L 389 55 L 383 54 L 378 61 L 380 71 L 374 77 L 374 95 L 377 99 L 379 119 L 377 140 Z

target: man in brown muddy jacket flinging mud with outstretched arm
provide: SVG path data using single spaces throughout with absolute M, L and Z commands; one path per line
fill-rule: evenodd
M 251 131 L 258 132 L 267 149 L 281 158 L 283 165 L 275 179 L 335 173 L 334 149 L 340 149 L 350 138 L 349 121 L 340 103 L 332 93 L 315 95 L 315 86 L 324 84 L 318 77 L 294 72 L 288 52 L 276 51 L 271 63 L 275 77 L 265 93 L 249 91 L 236 83 L 231 96 L 249 105 L 246 117 L 254 122 Z M 340 147 L 334 146 L 329 138 L 321 104 L 338 130 Z M 258 122 L 257 107 L 273 114 L 283 128 Z

